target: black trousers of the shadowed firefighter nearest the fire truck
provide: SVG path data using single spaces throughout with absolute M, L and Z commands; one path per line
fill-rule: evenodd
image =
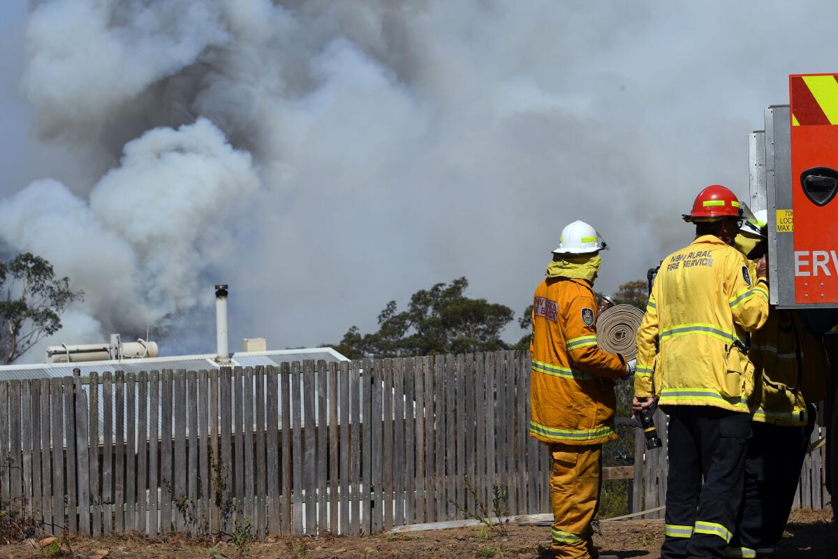
M 742 515 L 734 546 L 756 551 L 758 557 L 773 556 L 774 546 L 783 537 L 789 520 L 814 428 L 813 405 L 809 407 L 809 423 L 802 427 L 753 422 L 753 437 L 747 443 Z

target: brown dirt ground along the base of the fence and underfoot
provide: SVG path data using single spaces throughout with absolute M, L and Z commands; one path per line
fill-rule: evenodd
M 831 525 L 830 520 L 829 510 L 795 511 L 780 542 L 778 556 L 794 559 L 838 557 L 838 526 Z M 600 530 L 602 533 L 594 540 L 603 551 L 614 553 L 620 559 L 660 559 L 662 520 L 603 522 Z M 507 536 L 487 536 L 476 527 L 378 536 L 321 536 L 255 542 L 246 556 L 259 559 L 529 559 L 538 552 L 539 544 L 546 544 L 549 537 L 550 529 L 546 526 L 510 526 Z M 167 540 L 129 536 L 96 540 L 75 538 L 70 540 L 70 546 L 74 557 L 84 558 L 107 551 L 108 559 L 209 559 L 213 544 L 187 541 L 181 536 Z M 236 549 L 230 543 L 220 542 L 217 549 L 230 559 L 237 557 Z M 39 556 L 41 554 L 30 542 L 0 546 L 0 558 L 3 559 Z

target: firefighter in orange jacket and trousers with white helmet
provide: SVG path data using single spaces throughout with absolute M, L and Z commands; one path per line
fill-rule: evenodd
M 592 286 L 607 248 L 591 225 L 567 225 L 533 299 L 530 436 L 551 445 L 551 550 L 566 559 L 598 556 L 591 521 L 603 443 L 617 438 L 614 381 L 634 371 L 634 361 L 597 347 Z

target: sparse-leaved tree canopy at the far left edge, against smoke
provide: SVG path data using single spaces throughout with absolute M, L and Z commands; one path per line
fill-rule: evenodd
M 0 360 L 7 365 L 58 332 L 60 315 L 84 297 L 70 289 L 69 278 L 56 278 L 48 261 L 28 252 L 0 261 L 0 293 Z

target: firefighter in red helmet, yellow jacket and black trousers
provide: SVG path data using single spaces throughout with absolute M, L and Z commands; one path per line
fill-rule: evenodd
M 747 333 L 768 318 L 764 259 L 752 277 L 731 246 L 740 216 L 729 189 L 698 194 L 683 216 L 696 238 L 664 259 L 637 334 L 634 411 L 657 396 L 670 416 L 663 559 L 723 557 L 736 527 L 751 432 Z

